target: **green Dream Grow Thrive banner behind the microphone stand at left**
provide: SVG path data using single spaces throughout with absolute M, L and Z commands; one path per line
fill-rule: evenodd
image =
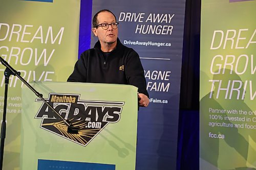
M 65 10 L 63 10 L 65 9 Z M 0 0 L 0 56 L 31 81 L 67 81 L 78 52 L 79 0 Z M 5 67 L 0 64 L 0 113 Z M 18 169 L 21 87 L 11 76 L 4 169 Z

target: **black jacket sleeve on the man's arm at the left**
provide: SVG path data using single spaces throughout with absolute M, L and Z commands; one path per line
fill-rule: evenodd
M 85 83 L 87 79 L 87 60 L 84 54 L 81 54 L 80 59 L 77 60 L 74 71 L 68 78 L 68 82 Z

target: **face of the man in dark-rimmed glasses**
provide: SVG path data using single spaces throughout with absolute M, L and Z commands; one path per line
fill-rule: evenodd
M 116 22 L 114 15 L 107 11 L 99 13 L 97 20 L 98 20 L 98 24 Z M 95 36 L 99 38 L 99 41 L 101 44 L 102 43 L 112 44 L 112 43 L 115 43 L 117 40 L 118 28 L 113 29 L 112 26 L 110 25 L 107 30 L 103 30 L 100 26 L 98 28 L 93 28 L 93 33 Z

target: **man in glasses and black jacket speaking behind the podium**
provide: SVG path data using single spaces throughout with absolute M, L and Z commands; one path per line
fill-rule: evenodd
M 93 17 L 92 31 L 98 41 L 81 54 L 68 82 L 129 84 L 138 87 L 139 106 L 149 104 L 146 80 L 138 53 L 118 38 L 116 16 L 100 10 Z

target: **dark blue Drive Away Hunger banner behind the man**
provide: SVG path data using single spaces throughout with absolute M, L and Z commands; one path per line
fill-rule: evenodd
M 120 41 L 145 70 L 151 104 L 138 114 L 136 167 L 175 169 L 185 0 L 93 1 L 92 15 L 101 9 L 116 15 Z

